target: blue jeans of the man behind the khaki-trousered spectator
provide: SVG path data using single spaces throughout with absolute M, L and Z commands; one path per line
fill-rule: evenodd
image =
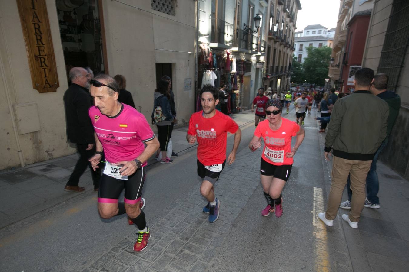
M 369 169 L 368 176 L 366 177 L 366 198 L 369 200 L 369 202 L 373 204 L 379 204 L 379 197 L 378 192 L 379 192 L 379 180 L 378 180 L 378 173 L 376 172 L 376 162 L 378 161 L 379 154 L 382 152 L 382 150 L 387 146 L 388 141 L 385 140 L 382 142 L 380 147 L 375 153 L 375 156 L 373 157 L 373 161 L 371 163 L 371 168 Z M 348 188 L 348 200 L 351 201 L 352 197 L 352 190 L 351 190 L 351 179 L 347 179 L 346 183 L 346 188 Z

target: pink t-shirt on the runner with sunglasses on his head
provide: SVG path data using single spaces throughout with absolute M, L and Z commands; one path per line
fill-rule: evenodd
M 95 106 L 89 109 L 88 114 L 110 163 L 136 159 L 145 149 L 144 142 L 155 138 L 145 116 L 126 104 L 122 104 L 115 117 L 101 114 Z

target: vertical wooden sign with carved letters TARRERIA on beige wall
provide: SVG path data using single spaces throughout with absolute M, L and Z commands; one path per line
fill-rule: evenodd
M 17 0 L 33 88 L 55 92 L 59 86 L 45 0 Z

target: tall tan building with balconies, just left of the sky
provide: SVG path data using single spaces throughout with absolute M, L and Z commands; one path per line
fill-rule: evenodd
M 301 9 L 299 0 L 272 0 L 266 28 L 268 42 L 263 86 L 278 93 L 290 88 L 292 55 L 297 14 Z

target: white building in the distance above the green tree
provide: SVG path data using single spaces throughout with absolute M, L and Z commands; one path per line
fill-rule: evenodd
M 295 33 L 295 52 L 298 62 L 304 62 L 307 57 L 307 47 L 333 46 L 333 29 L 330 31 L 321 24 L 310 24 L 302 31 Z

